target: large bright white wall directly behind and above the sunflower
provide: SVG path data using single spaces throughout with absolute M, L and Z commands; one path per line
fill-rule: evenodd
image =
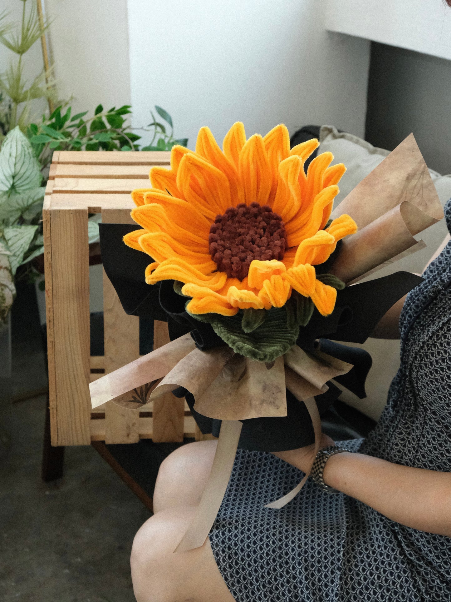
M 222 141 L 284 122 L 364 133 L 369 43 L 324 31 L 322 0 L 128 0 L 134 125 L 153 105 L 194 147 L 208 125 Z

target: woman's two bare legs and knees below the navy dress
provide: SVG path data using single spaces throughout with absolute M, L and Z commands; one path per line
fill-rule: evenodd
M 207 539 L 174 554 L 206 485 L 216 441 L 183 445 L 162 463 L 155 486 L 156 515 L 133 541 L 131 566 L 138 602 L 233 602 Z

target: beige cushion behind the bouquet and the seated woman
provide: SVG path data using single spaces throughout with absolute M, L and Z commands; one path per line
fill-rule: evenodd
M 330 151 L 334 155 L 334 163 L 344 163 L 347 170 L 340 181 L 340 194 L 337 196 L 338 205 L 357 184 L 363 180 L 389 154 L 385 149 L 379 149 L 365 140 L 352 134 L 339 132 L 333 126 L 321 128 L 319 140 L 320 152 Z M 441 176 L 440 173 L 429 170 L 441 204 L 451 198 L 451 175 Z M 379 270 L 372 278 L 380 278 L 399 270 L 422 273 L 435 249 L 447 235 L 444 220 L 423 231 L 416 238 L 426 243 L 426 249 L 413 253 L 400 261 Z M 388 387 L 399 368 L 399 341 L 368 339 L 363 345 L 355 345 L 366 349 L 373 358 L 373 367 L 367 379 L 367 398 L 360 400 L 349 391 L 343 391 L 342 399 L 361 412 L 378 420 L 387 401 Z

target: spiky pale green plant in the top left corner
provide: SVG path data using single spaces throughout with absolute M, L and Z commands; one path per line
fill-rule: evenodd
M 6 135 L 4 125 L 8 130 L 14 129 L 19 125 L 20 129 L 25 130 L 30 116 L 31 101 L 39 98 L 55 98 L 55 82 L 51 73 L 44 69 L 38 73 L 31 81 L 27 82 L 23 75 L 24 55 L 40 39 L 44 31 L 48 29 L 49 20 L 43 20 L 40 23 L 36 7 L 33 2 L 29 4 L 27 10 L 27 1 L 21 0 L 22 20 L 18 24 L 5 21 L 7 13 L 0 14 L 0 43 L 16 55 L 16 60 L 11 60 L 7 69 L 0 75 L 0 92 L 2 92 L 3 101 L 7 107 L 7 121 L 3 121 L 0 128 L 0 137 Z M 47 80 L 47 81 L 46 81 Z M 0 111 L 0 117 L 5 111 Z

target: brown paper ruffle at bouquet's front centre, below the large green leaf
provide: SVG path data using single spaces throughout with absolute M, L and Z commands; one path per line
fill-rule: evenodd
M 219 420 L 286 416 L 283 358 L 277 358 L 269 369 L 262 362 L 246 358 L 241 379 L 226 380 L 219 374 L 204 393 L 195 398 L 194 409 Z

